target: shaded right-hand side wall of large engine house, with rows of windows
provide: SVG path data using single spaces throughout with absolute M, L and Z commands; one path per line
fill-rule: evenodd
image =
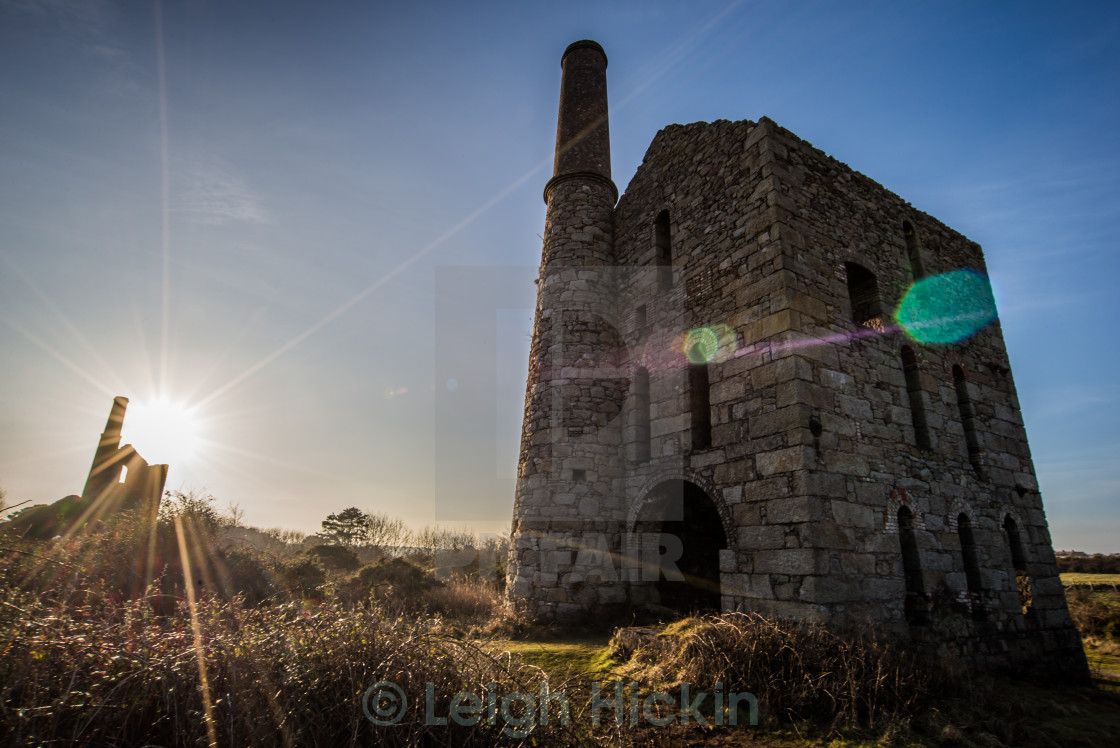
M 916 637 L 980 656 L 1009 651 L 1027 661 L 1065 651 L 1076 660 L 1072 653 L 1080 653 L 1080 642 L 1057 576 L 998 321 L 946 345 L 924 345 L 892 331 L 893 310 L 923 271 L 927 277 L 984 272 L 980 246 L 788 131 L 776 125 L 769 131 L 773 172 L 788 212 L 780 225 L 791 302 L 812 300 L 799 309 L 796 329 L 799 337 L 821 342 L 799 349 L 812 372 L 801 400 L 813 409 L 821 432 L 806 466 L 829 527 L 816 537 L 829 555 L 829 578 L 821 580 L 828 589 L 810 595 L 833 615 L 905 629 L 898 526 L 905 505 L 915 517 L 926 598 L 918 605 L 928 616 L 927 625 L 911 626 Z M 877 278 L 885 331 L 855 321 L 846 263 Z M 904 346 L 916 359 L 912 376 L 920 390 L 913 394 Z M 954 366 L 965 377 L 968 412 Z M 916 432 L 915 398 L 924 410 L 927 445 Z M 971 450 L 967 418 L 976 432 Z M 972 589 L 961 515 L 974 539 L 978 580 Z M 1005 530 L 1008 517 L 1025 557 L 1019 565 L 1029 577 L 1029 592 L 1023 596 L 1012 537 Z

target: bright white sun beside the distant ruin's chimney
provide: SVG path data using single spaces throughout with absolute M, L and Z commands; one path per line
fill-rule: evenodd
M 165 398 L 132 402 L 121 441 L 136 447 L 151 465 L 187 465 L 198 456 L 203 443 L 198 409 Z

